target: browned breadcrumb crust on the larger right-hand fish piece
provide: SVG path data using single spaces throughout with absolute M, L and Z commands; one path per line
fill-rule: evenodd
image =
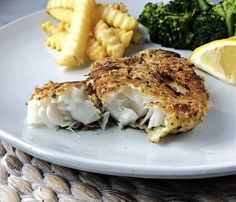
M 194 128 L 209 109 L 204 79 L 194 72 L 194 65 L 170 51 L 145 50 L 132 57 L 95 62 L 88 83 L 103 103 L 110 93 L 127 85 L 157 98 L 158 102 L 151 105 L 167 112 L 165 126 L 148 129 L 139 123 L 132 124 L 145 129 L 153 142 L 167 134 Z

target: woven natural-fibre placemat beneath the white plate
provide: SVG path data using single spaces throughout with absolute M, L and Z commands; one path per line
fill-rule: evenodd
M 0 142 L 0 202 L 236 201 L 236 176 L 147 180 L 73 170 Z

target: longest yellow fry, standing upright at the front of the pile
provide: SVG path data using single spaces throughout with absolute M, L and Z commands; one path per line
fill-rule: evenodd
M 84 54 L 88 40 L 94 0 L 75 2 L 75 12 L 63 49 L 57 59 L 59 65 L 78 67 L 84 63 Z

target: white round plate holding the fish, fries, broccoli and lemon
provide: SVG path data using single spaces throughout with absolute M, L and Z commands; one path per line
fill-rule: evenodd
M 132 6 L 137 16 L 144 1 Z M 118 128 L 106 131 L 54 131 L 26 128 L 28 96 L 48 80 L 84 78 L 88 68 L 64 71 L 43 45 L 39 12 L 0 30 L 0 138 L 36 157 L 98 173 L 145 178 L 198 178 L 236 173 L 236 88 L 199 72 L 211 92 L 212 109 L 190 132 L 150 143 L 144 132 Z M 139 49 L 158 48 L 144 44 Z M 131 54 L 137 47 L 127 51 Z M 180 51 L 188 56 L 189 51 Z

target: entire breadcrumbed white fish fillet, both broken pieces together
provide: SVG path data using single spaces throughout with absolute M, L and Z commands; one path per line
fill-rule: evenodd
M 105 128 L 111 115 L 121 127 L 143 129 L 158 142 L 191 130 L 208 109 L 204 79 L 194 65 L 174 52 L 146 50 L 93 63 L 85 81 L 36 87 L 26 121 L 50 128 L 93 123 Z

